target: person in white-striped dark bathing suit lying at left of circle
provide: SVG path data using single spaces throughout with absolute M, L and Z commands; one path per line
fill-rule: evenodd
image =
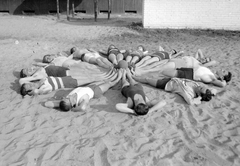
M 107 80 L 111 81 L 117 77 L 117 73 L 113 72 Z M 84 85 L 84 82 L 82 85 Z M 64 88 L 77 88 L 82 86 L 78 83 L 77 79 L 74 79 L 70 76 L 67 77 L 46 77 L 39 81 L 34 82 L 20 82 L 21 88 L 20 93 L 22 96 L 29 95 L 43 95 L 48 94 L 57 89 Z

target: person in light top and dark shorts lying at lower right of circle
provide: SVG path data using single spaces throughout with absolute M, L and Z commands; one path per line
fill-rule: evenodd
M 210 101 L 217 94 L 217 90 L 207 88 L 205 85 L 195 81 L 183 78 L 133 78 L 141 83 L 149 84 L 158 89 L 163 89 L 167 92 L 177 93 L 184 98 L 190 105 L 201 104 L 202 101 Z

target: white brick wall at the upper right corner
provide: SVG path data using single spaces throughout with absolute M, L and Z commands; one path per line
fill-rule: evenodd
M 144 0 L 143 26 L 240 30 L 240 0 Z

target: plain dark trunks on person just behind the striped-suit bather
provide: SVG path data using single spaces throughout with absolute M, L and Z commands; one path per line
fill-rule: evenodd
M 67 70 L 69 69 L 66 67 L 53 66 L 53 65 L 49 65 L 45 68 L 47 75 L 53 76 L 53 77 L 66 77 Z

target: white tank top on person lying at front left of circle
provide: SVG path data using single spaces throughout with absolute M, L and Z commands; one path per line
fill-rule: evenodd
M 92 99 L 93 98 L 93 95 L 94 95 L 94 92 L 91 88 L 89 87 L 78 87 L 76 89 L 74 89 L 73 91 L 71 91 L 69 93 L 69 95 L 67 95 L 67 98 L 69 98 L 69 96 L 71 95 L 74 95 L 74 94 L 77 94 L 77 102 L 76 102 L 76 105 L 72 105 L 72 107 L 77 107 L 78 104 L 81 102 L 81 99 L 84 95 L 88 95 L 89 96 L 89 99 Z

